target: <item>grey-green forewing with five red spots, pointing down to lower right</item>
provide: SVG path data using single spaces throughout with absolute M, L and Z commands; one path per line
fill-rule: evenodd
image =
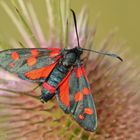
M 70 110 L 73 118 L 86 130 L 97 127 L 96 109 L 84 67 L 79 65 L 71 73 Z

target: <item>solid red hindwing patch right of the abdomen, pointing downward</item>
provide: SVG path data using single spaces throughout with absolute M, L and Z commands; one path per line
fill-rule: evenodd
M 62 102 L 62 104 L 64 104 L 67 107 L 70 107 L 69 76 L 70 76 L 70 72 L 60 83 L 60 93 L 59 93 L 60 101 Z

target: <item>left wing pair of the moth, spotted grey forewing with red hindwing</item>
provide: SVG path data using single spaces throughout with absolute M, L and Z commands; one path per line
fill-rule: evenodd
M 60 48 L 21 48 L 0 52 L 0 66 L 24 80 L 43 82 L 60 58 Z

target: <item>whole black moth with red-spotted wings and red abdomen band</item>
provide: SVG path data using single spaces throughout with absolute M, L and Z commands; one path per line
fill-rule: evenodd
M 40 100 L 47 102 L 56 96 L 60 108 L 71 114 L 87 131 L 95 131 L 97 113 L 88 78 L 80 56 L 83 51 L 119 58 L 110 53 L 81 48 L 73 10 L 78 45 L 72 49 L 19 48 L 0 52 L 0 66 L 16 73 L 23 80 L 39 83 L 42 87 Z

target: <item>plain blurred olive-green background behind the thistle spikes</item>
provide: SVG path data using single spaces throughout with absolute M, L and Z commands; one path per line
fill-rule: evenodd
M 9 0 L 7 1 L 9 4 Z M 41 25 L 46 28 L 43 22 L 45 14 L 44 0 L 30 0 L 37 10 Z M 112 29 L 117 28 L 116 39 L 127 41 L 127 46 L 131 50 L 131 55 L 140 54 L 140 0 L 71 0 L 71 8 L 79 12 L 81 7 L 87 5 L 89 10 L 90 24 L 94 23 L 95 17 L 100 15 L 96 44 L 108 34 Z M 43 27 L 43 28 L 44 28 Z M 8 17 L 6 12 L 0 6 L 0 40 L 6 41 L 7 38 L 17 38 L 20 40 L 19 33 Z M 138 62 L 140 64 L 140 62 Z

